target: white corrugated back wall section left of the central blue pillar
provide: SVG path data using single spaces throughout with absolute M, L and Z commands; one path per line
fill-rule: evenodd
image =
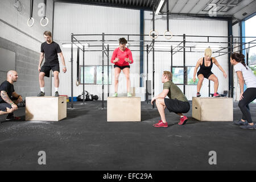
M 139 34 L 140 31 L 139 10 L 119 9 L 114 7 L 80 5 L 75 3 L 55 3 L 53 39 L 61 43 L 71 43 L 71 33 L 73 34 Z M 77 39 L 102 40 L 101 36 L 77 36 Z M 119 36 L 106 36 L 105 39 L 117 40 Z M 130 38 L 135 39 L 135 38 Z M 139 39 L 139 38 L 137 38 Z M 90 44 L 93 44 L 91 42 Z M 71 96 L 71 49 L 62 48 L 63 55 L 67 64 L 67 73 L 60 73 L 60 94 Z M 101 48 L 100 48 L 101 49 Z M 73 63 L 73 95 L 78 96 L 82 93 L 82 85 L 76 86 L 76 56 L 77 50 L 74 49 Z M 110 52 L 110 59 L 113 52 Z M 139 52 L 133 52 L 134 64 L 130 68 L 131 86 L 139 87 Z M 105 65 L 107 59 L 105 56 Z M 110 63 L 111 64 L 111 63 Z M 61 65 L 61 64 L 60 64 Z M 82 51 L 80 51 L 80 65 L 82 65 Z M 102 65 L 102 52 L 85 52 L 85 65 Z M 60 67 L 63 68 L 62 65 Z M 113 70 L 114 71 L 114 70 Z M 105 70 L 106 72 L 106 70 Z M 106 79 L 106 78 L 105 78 Z M 112 82 L 114 72 L 112 72 Z M 114 85 L 114 84 L 113 84 Z M 110 85 L 110 94 L 114 88 Z M 85 90 L 90 94 L 97 94 L 101 100 L 102 85 L 85 85 Z M 107 93 L 107 86 L 104 92 Z M 53 90 L 54 92 L 54 86 Z M 118 93 L 126 93 L 126 78 L 121 73 L 119 77 Z M 104 98 L 106 99 L 106 94 Z

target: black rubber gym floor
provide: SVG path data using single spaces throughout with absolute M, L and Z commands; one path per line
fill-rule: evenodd
M 106 105 L 106 104 L 105 104 Z M 68 104 L 68 107 L 70 104 Z M 106 122 L 101 102 L 75 102 L 59 122 L 19 122 L 0 116 L 0 170 L 254 170 L 256 130 L 243 130 L 232 122 L 189 121 L 166 110 L 169 127 L 154 128 L 159 114 L 142 102 L 142 122 Z M 256 104 L 250 104 L 256 122 Z M 124 108 L 125 109 L 125 108 Z M 234 103 L 234 120 L 241 111 Z M 39 151 L 46 165 L 39 165 Z M 217 164 L 209 164 L 216 151 Z

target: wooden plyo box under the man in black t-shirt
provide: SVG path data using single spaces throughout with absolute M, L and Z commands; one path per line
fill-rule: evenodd
M 26 121 L 60 121 L 67 118 L 66 97 L 26 97 Z

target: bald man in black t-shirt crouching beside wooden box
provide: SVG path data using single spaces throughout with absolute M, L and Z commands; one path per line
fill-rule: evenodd
M 7 80 L 0 85 L 0 115 L 8 114 L 6 121 L 19 120 L 19 117 L 14 117 L 13 112 L 18 109 L 16 104 L 22 102 L 22 96 L 19 96 L 14 91 L 14 82 L 18 80 L 16 71 L 7 73 Z

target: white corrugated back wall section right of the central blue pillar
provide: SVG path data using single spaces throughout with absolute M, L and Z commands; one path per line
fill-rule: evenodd
M 167 30 L 166 15 L 155 16 L 155 30 L 159 34 L 163 34 Z M 152 30 L 152 13 L 146 12 L 145 19 L 145 34 L 148 34 Z M 170 31 L 174 35 L 204 35 L 204 36 L 227 36 L 228 35 L 228 22 L 222 20 L 201 19 L 192 18 L 189 16 L 170 16 Z M 150 39 L 147 39 L 150 40 Z M 166 40 L 163 36 L 159 36 L 155 40 Z M 182 37 L 173 37 L 171 40 L 182 41 Z M 187 38 L 187 41 L 207 41 L 207 38 Z M 210 38 L 209 41 L 213 42 L 228 42 L 226 38 Z M 158 44 L 158 43 L 155 43 Z M 162 43 L 164 44 L 164 43 Z M 177 45 L 179 43 L 173 43 Z M 198 44 L 198 43 L 197 43 Z M 182 46 L 183 44 L 181 44 Z M 187 43 L 187 46 L 195 46 L 196 44 Z M 214 45 L 214 44 L 211 44 Z M 215 44 L 222 47 L 228 47 L 228 44 Z M 181 49 L 183 51 L 183 49 Z M 185 60 L 187 66 L 195 66 L 197 60 L 203 57 L 204 53 L 187 52 L 185 54 Z M 213 57 L 217 54 L 213 54 Z M 216 58 L 221 67 L 228 74 L 228 55 L 220 56 Z M 177 52 L 173 56 L 174 66 L 183 66 L 183 52 Z M 163 84 L 161 83 L 161 77 L 163 71 L 170 71 L 171 69 L 171 52 L 155 52 L 155 95 L 162 92 Z M 144 59 L 144 71 L 146 72 L 146 59 Z M 149 55 L 149 80 L 152 80 L 152 53 Z M 218 92 L 223 93 L 224 90 L 228 90 L 228 78 L 224 78 L 222 72 L 213 66 L 212 72 L 218 77 L 219 87 Z M 144 79 L 145 80 L 145 79 Z M 213 93 L 213 82 L 210 83 L 210 93 Z M 183 86 L 180 86 L 183 90 Z M 208 97 L 208 80 L 205 79 L 201 88 L 201 95 Z M 196 96 L 196 85 L 187 85 L 185 88 L 185 95 L 188 100 L 192 100 L 193 96 Z

